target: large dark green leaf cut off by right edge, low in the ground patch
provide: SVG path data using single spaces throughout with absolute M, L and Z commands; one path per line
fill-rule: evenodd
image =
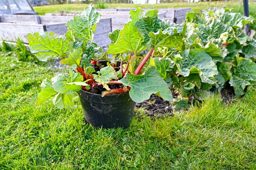
M 243 95 L 244 89 L 248 85 L 255 86 L 256 84 L 256 63 L 249 59 L 242 59 L 237 66 L 231 69 L 232 78 L 229 84 L 234 87 L 236 96 Z

